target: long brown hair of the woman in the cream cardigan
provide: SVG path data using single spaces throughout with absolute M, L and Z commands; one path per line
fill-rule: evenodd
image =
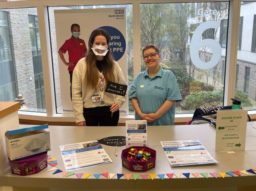
M 85 83 L 87 83 L 88 88 L 96 88 L 99 81 L 98 69 L 96 66 L 96 55 L 91 50 L 92 44 L 94 43 L 95 37 L 104 36 L 107 39 L 107 44 L 110 42 L 110 35 L 102 28 L 97 28 L 92 31 L 91 36 L 89 38 L 90 45 L 88 48 L 86 60 L 86 72 L 85 72 Z M 110 48 L 107 47 L 107 54 L 104 56 L 105 64 L 102 65 L 102 72 L 104 75 L 104 84 L 107 84 L 107 81 L 115 82 L 115 77 L 113 75 L 113 56 L 110 51 Z M 106 83 L 105 83 L 106 82 Z

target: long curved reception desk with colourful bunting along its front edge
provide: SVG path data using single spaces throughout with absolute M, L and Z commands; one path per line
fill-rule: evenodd
M 28 127 L 28 125 L 26 125 Z M 256 175 L 235 175 L 231 177 L 226 175 L 225 178 L 214 178 L 209 174 L 208 178 L 202 175 L 199 178 L 190 175 L 190 178 L 185 178 L 182 173 L 202 173 L 202 172 L 228 172 L 236 170 L 247 170 L 256 167 L 256 122 L 247 123 L 246 131 L 246 150 L 236 151 L 236 153 L 228 154 L 227 152 L 215 152 L 215 128 L 210 125 L 175 125 L 175 126 L 149 126 L 148 140 L 149 147 L 156 150 L 156 168 L 147 172 L 130 172 L 122 167 L 120 154 L 125 146 L 117 147 L 118 156 L 115 157 L 115 147 L 103 145 L 104 149 L 113 160 L 113 163 L 75 170 L 75 173 L 91 173 L 87 179 L 78 179 L 75 175 L 66 178 L 62 177 L 62 173 L 52 175 L 54 172 L 47 172 L 52 166 L 48 166 L 42 172 L 34 175 L 19 176 L 13 175 L 10 168 L 6 169 L 0 175 L 0 185 L 12 186 L 15 190 L 254 190 L 256 189 Z M 51 151 L 49 155 L 58 160 L 58 169 L 65 171 L 62 162 L 59 145 L 71 144 L 77 142 L 91 141 L 109 136 L 125 136 L 125 127 L 71 127 L 71 126 L 49 126 L 51 133 Z M 160 141 L 174 140 L 193 140 L 198 139 L 208 150 L 208 152 L 219 163 L 197 166 L 180 166 L 171 167 L 168 163 L 165 153 L 161 147 Z M 165 175 L 164 180 L 156 176 L 154 180 L 150 177 L 144 180 L 139 177 L 137 180 L 133 176 L 127 181 L 123 176 L 119 180 L 117 177 L 107 179 L 100 176 L 97 180 L 93 174 L 97 173 L 120 173 L 120 174 L 166 174 L 166 173 L 181 173 L 181 178 L 175 176 L 170 179 Z M 29 188 L 26 188 L 29 187 Z M 51 188 L 51 189 L 49 189 Z

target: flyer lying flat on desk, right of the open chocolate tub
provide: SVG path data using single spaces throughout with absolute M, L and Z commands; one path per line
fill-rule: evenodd
M 160 143 L 171 166 L 218 163 L 198 140 Z

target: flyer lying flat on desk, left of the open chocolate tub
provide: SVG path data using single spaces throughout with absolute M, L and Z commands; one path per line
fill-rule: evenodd
M 66 144 L 59 147 L 66 171 L 112 163 L 112 160 L 97 140 Z

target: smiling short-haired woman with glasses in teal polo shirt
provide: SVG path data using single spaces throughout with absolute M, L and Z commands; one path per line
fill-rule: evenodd
M 129 95 L 135 119 L 145 119 L 148 125 L 173 125 L 175 103 L 182 100 L 176 78 L 160 66 L 158 47 L 146 45 L 142 54 L 147 69 L 133 80 Z

